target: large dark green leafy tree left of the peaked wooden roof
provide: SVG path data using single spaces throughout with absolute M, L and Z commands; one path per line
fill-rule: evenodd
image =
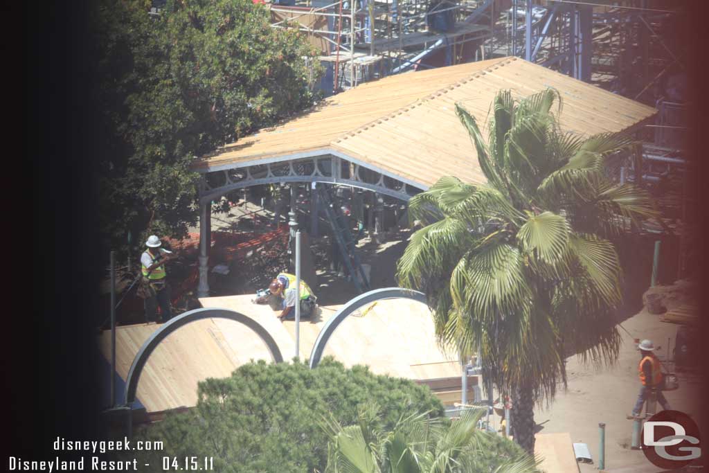
M 114 247 L 128 230 L 184 235 L 194 157 L 311 105 L 315 51 L 251 0 L 169 0 L 152 16 L 147 0 L 92 6 L 101 228 Z

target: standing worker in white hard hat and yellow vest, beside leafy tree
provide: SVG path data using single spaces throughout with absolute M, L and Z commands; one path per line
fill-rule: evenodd
M 147 250 L 140 256 L 140 265 L 143 277 L 146 279 L 145 283 L 150 285 L 152 294 L 155 294 L 145 299 L 145 318 L 149 322 L 166 322 L 172 318 L 172 311 L 170 309 L 170 287 L 165 279 L 167 276 L 165 263 L 174 260 L 177 255 L 161 248 L 162 243 L 156 235 L 150 235 L 145 245 Z M 157 306 L 160 306 L 162 311 L 161 320 L 157 320 Z

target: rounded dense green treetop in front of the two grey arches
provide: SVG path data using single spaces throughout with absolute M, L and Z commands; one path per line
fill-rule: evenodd
M 358 409 L 371 403 L 381 406 L 385 428 L 406 411 L 444 413 L 427 386 L 374 375 L 364 366 L 345 369 L 331 358 L 316 369 L 303 362 L 255 362 L 231 377 L 201 382 L 196 408 L 138 432 L 136 440 L 164 442 L 160 452 L 138 453 L 138 463 L 162 471 L 162 457 L 196 456 L 213 457 L 216 472 L 323 471 L 328 434 L 318 421 L 332 416 L 354 423 Z

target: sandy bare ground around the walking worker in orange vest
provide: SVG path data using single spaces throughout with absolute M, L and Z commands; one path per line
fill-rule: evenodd
M 683 295 L 677 291 L 669 291 L 668 295 L 666 306 L 669 308 L 674 308 L 683 301 Z M 671 351 L 674 349 L 679 325 L 661 322 L 659 316 L 648 313 L 645 309 L 621 325 L 632 336 L 620 329 L 623 346 L 620 348 L 618 362 L 611 367 L 599 368 L 582 365 L 578 357 L 570 357 L 566 364 L 569 374 L 568 390 L 557 395 L 549 408 L 535 411 L 535 421 L 542 428 L 540 432 L 569 432 L 574 443 L 588 445 L 593 464 L 580 464 L 581 472 L 598 472 L 600 422 L 605 423 L 605 469 L 648 464 L 642 451 L 630 450 L 632 421 L 625 419 L 632 410 L 637 391 L 640 389 L 637 377 L 640 352 L 636 350 L 633 338 L 653 340 L 656 346 L 659 345 L 657 355 L 666 361 L 668 338 Z M 674 365 L 665 365 L 674 372 Z M 702 377 L 691 372 L 677 374 L 679 389 L 666 391 L 665 397 L 673 409 L 688 413 L 699 422 L 699 419 L 703 418 L 699 392 Z

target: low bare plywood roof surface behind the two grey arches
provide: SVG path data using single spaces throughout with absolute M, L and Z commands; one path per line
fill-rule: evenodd
M 204 307 L 228 308 L 253 318 L 274 338 L 284 360 L 295 355 L 295 323 L 281 323 L 278 312 L 257 306 L 252 296 L 200 299 Z M 323 355 L 332 355 L 345 366 L 369 365 L 376 374 L 408 379 L 460 377 L 454 355 L 442 352 L 435 342 L 430 311 L 425 304 L 408 299 L 389 299 L 370 304 L 347 318 L 335 330 Z M 313 321 L 300 326 L 300 356 L 306 360 L 328 319 L 340 306 L 320 307 Z M 160 325 L 119 327 L 116 333 L 116 371 L 125 379 L 141 345 Z M 110 332 L 99 338 L 108 359 Z M 137 398 L 148 413 L 195 406 L 197 383 L 208 377 L 228 377 L 250 360 L 271 357 L 261 340 L 248 328 L 224 319 L 189 323 L 170 334 L 147 361 L 138 382 Z

